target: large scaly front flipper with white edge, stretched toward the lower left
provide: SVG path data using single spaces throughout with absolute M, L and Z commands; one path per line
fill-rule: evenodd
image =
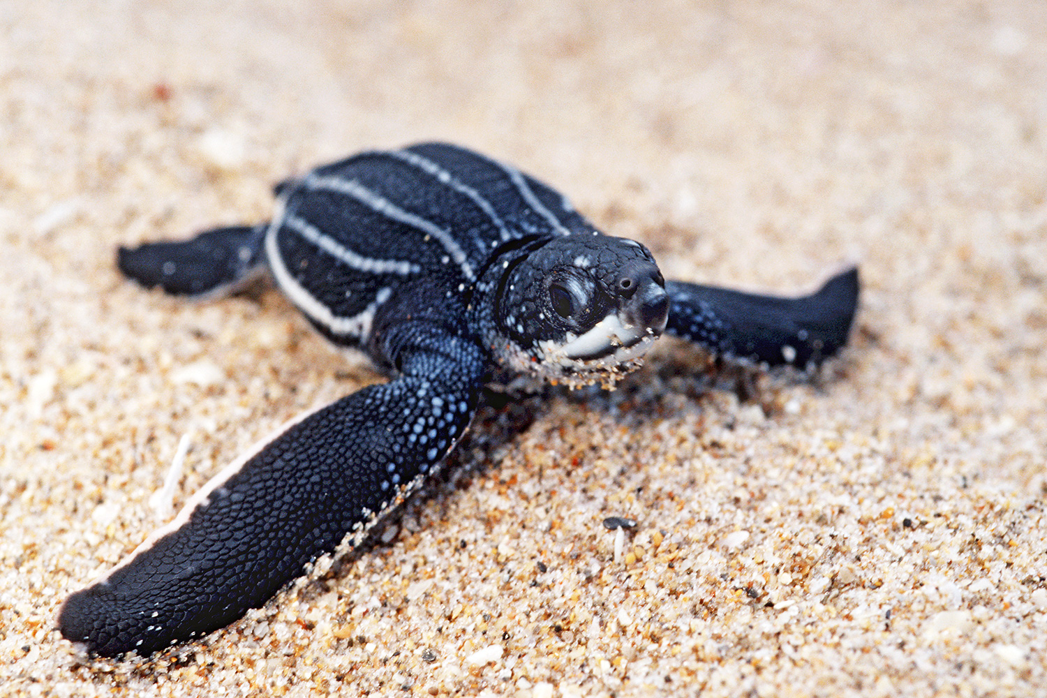
M 439 466 L 472 419 L 483 356 L 429 324 L 407 323 L 393 339 L 399 378 L 309 414 L 229 466 L 171 524 L 69 596 L 62 634 L 93 654 L 147 655 L 221 628 Z

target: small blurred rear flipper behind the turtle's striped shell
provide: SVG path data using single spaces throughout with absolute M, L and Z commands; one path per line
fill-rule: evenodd
M 146 288 L 175 295 L 221 295 L 265 270 L 266 225 L 217 228 L 192 240 L 120 247 L 116 266 Z

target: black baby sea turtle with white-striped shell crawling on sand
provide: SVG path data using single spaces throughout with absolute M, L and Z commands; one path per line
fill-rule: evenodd
M 442 143 L 371 152 L 275 189 L 272 220 L 121 248 L 120 270 L 185 295 L 270 274 L 319 332 L 393 377 L 222 470 L 171 523 L 62 607 L 89 653 L 147 655 L 263 605 L 438 468 L 483 386 L 612 386 L 668 331 L 733 360 L 817 365 L 847 340 L 857 270 L 799 298 L 665 282 L 545 184 Z

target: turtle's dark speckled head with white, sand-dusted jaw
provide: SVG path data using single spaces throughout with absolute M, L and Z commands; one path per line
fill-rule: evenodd
M 612 385 L 665 329 L 669 299 L 640 243 L 556 238 L 507 269 L 498 298 L 511 367 L 569 385 Z M 498 350 L 495 350 L 498 352 Z

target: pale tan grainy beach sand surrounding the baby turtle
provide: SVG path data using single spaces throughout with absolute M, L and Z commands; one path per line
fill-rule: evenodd
M 0 26 L 0 694 L 1043 695 L 1047 5 L 39 0 Z M 665 342 L 617 392 L 486 411 L 362 555 L 153 660 L 77 657 L 59 605 L 155 527 L 183 435 L 176 504 L 381 380 L 272 289 L 181 302 L 114 248 L 432 138 L 670 277 L 857 263 L 851 345 L 739 383 Z M 608 516 L 638 522 L 617 557 Z

